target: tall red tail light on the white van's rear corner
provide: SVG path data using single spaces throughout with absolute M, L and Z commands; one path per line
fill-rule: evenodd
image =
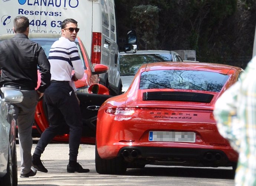
M 92 54 L 91 62 L 93 64 L 101 63 L 101 33 L 93 32 L 92 33 Z

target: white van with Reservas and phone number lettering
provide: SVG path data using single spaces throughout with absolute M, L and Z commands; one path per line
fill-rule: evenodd
M 109 67 L 99 76 L 100 83 L 112 95 L 121 93 L 114 0 L 1 0 L 0 7 L 0 35 L 14 33 L 16 16 L 29 18 L 30 33 L 60 33 L 64 19 L 78 21 L 78 36 L 91 62 Z

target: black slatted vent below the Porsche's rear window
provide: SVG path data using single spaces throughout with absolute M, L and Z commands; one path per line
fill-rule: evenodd
M 144 101 L 179 101 L 179 102 L 200 102 L 210 103 L 212 94 L 194 92 L 144 92 Z

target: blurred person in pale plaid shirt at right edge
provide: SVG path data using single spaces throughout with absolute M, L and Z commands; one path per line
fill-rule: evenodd
M 217 100 L 214 118 L 219 133 L 239 153 L 236 186 L 256 186 L 256 57 L 238 81 Z

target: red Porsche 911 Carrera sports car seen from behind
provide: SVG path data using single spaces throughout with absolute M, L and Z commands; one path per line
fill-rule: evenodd
M 123 174 L 150 165 L 236 166 L 218 132 L 214 103 L 243 69 L 213 63 L 143 64 L 131 86 L 98 111 L 95 166 Z

